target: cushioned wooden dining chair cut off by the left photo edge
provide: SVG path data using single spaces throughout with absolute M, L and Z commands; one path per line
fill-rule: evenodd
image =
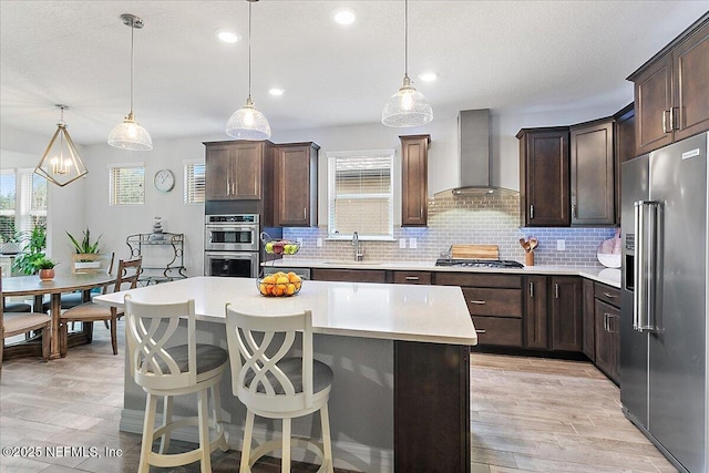
M 0 297 L 2 297 L 2 276 L 0 276 Z M 50 353 L 50 327 L 51 318 L 47 313 L 38 312 L 6 312 L 3 305 L 0 305 L 0 336 L 2 336 L 2 343 L 0 343 L 0 376 L 2 374 L 2 357 L 4 354 L 4 340 L 18 335 L 25 335 L 30 331 L 34 331 L 38 335 L 41 333 L 42 345 L 38 350 L 38 345 L 24 340 L 18 342 L 23 343 L 22 354 L 28 356 L 41 356 L 44 361 L 49 360 Z

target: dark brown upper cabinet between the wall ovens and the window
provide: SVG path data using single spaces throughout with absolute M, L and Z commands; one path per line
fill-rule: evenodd
M 276 226 L 318 225 L 318 146 L 289 143 L 276 146 L 274 171 Z

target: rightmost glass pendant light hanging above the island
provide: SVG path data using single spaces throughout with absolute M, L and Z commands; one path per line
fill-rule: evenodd
M 431 104 L 411 85 L 409 79 L 409 0 L 404 0 L 404 73 L 403 85 L 389 99 L 381 113 L 381 123 L 387 126 L 421 126 L 433 120 Z

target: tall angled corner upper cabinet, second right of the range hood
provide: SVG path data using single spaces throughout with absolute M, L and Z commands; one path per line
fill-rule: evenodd
M 572 225 L 615 225 L 613 119 L 571 128 Z

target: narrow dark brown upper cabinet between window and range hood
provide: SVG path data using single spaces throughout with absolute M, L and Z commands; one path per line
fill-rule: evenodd
M 401 140 L 401 226 L 428 223 L 429 146 L 431 135 L 399 136 Z

